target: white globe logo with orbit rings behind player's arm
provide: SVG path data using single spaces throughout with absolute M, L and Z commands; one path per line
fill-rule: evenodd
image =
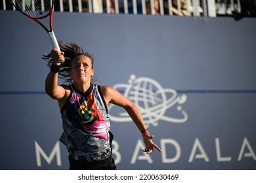
M 188 114 L 181 107 L 186 102 L 186 95 L 178 96 L 175 90 L 162 88 L 152 78 L 136 78 L 135 75 L 131 75 L 128 84 L 116 84 L 113 88 L 119 91 L 124 90 L 123 95 L 137 105 L 147 127 L 150 124 L 157 126 L 160 120 L 173 123 L 184 123 L 188 120 Z M 173 110 L 175 107 L 176 109 Z M 112 104 L 109 106 L 109 110 L 114 110 L 114 108 Z M 116 107 L 115 110 L 118 108 Z M 110 115 L 112 121 L 132 122 L 127 112 L 122 110 L 117 114 L 118 116 Z

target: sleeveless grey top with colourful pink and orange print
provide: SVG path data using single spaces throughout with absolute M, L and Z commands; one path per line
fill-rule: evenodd
M 99 161 L 111 156 L 110 117 L 100 87 L 91 84 L 87 92 L 71 93 L 62 110 L 64 132 L 60 142 L 79 161 Z

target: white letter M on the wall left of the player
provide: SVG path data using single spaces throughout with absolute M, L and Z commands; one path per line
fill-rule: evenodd
M 35 156 L 37 159 L 37 166 L 41 167 L 41 156 L 47 161 L 48 164 L 51 164 L 51 161 L 53 161 L 54 156 L 56 156 L 57 165 L 61 166 L 61 158 L 60 158 L 60 142 L 56 142 L 50 156 L 47 156 L 43 149 L 39 146 L 39 144 L 35 141 Z

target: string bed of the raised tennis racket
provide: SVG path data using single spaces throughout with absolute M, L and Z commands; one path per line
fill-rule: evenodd
M 15 0 L 15 7 L 28 16 L 41 17 L 53 7 L 52 0 Z

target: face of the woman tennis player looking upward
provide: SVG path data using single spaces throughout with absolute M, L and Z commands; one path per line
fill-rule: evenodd
M 75 57 L 71 63 L 70 75 L 74 82 L 91 82 L 91 76 L 95 73 L 91 58 L 80 55 Z

